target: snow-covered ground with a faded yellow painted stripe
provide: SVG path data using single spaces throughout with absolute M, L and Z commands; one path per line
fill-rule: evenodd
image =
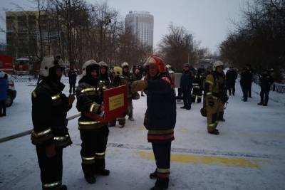
M 0 117 L 0 138 L 32 128 L 30 83 L 16 82 L 17 97 Z M 219 136 L 207 133 L 201 104 L 180 109 L 177 102 L 175 141 L 172 143 L 170 189 L 284 189 L 285 127 L 284 97 L 271 92 L 269 106 L 257 105 L 259 87 L 253 98 L 242 102 L 237 83 L 236 96 L 229 98 L 226 122 L 220 122 Z M 65 88 L 68 93 L 68 87 Z M 63 152 L 63 184 L 68 189 L 150 189 L 155 181 L 148 174 L 155 169 L 147 131 L 142 126 L 146 97 L 134 100 L 135 121 L 123 129 L 110 128 L 106 166 L 110 176 L 98 176 L 87 184 L 81 171 L 81 139 L 77 120 L 68 123 L 73 144 Z M 75 104 L 74 104 L 75 105 Z M 75 115 L 75 107 L 68 116 Z M 0 189 L 41 189 L 35 147 L 30 137 L 0 144 Z

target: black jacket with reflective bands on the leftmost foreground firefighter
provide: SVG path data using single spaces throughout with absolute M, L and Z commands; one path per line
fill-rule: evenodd
M 70 145 L 66 112 L 72 105 L 68 104 L 68 97 L 62 93 L 64 85 L 42 80 L 31 94 L 33 144 L 56 144 L 57 147 Z

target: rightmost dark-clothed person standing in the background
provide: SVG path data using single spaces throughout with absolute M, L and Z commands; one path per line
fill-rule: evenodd
M 259 77 L 260 81 L 260 102 L 258 105 L 268 105 L 270 87 L 274 83 L 273 78 L 269 75 L 268 70 L 263 70 L 262 75 Z

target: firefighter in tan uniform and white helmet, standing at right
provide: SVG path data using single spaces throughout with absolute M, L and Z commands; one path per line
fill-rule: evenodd
M 224 121 L 224 104 L 228 97 L 224 83 L 224 71 L 222 61 L 217 60 L 213 65 L 212 73 L 205 79 L 204 94 L 207 110 L 207 129 L 209 134 L 219 134 L 218 121 Z

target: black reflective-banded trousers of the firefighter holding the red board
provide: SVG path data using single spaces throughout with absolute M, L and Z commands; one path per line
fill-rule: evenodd
M 85 177 L 94 176 L 96 171 L 105 169 L 105 150 L 109 129 L 107 125 L 95 130 L 80 130 L 81 159 Z

